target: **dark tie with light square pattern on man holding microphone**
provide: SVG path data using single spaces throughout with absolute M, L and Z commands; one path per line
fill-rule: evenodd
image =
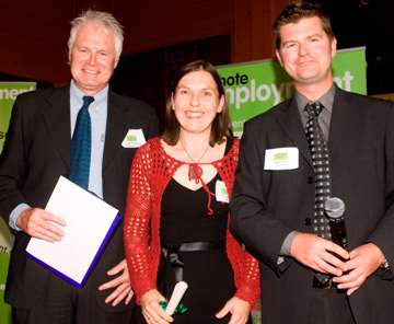
M 311 150 L 315 178 L 313 233 L 331 241 L 329 223 L 324 213 L 324 204 L 331 197 L 328 149 L 327 141 L 317 120 L 323 106 L 318 102 L 310 102 L 305 108 L 308 111 L 305 134 Z M 317 279 L 323 284 L 329 278 L 326 275 L 316 275 Z

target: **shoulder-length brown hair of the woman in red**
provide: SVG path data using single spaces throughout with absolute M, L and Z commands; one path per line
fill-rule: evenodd
M 206 71 L 212 76 L 215 83 L 218 86 L 219 99 L 223 95 L 224 97 L 224 105 L 220 113 L 218 113 L 212 121 L 211 128 L 211 136 L 209 139 L 209 144 L 213 147 L 216 143 L 222 143 L 224 138 L 232 139 L 232 128 L 231 128 L 231 120 L 230 120 L 230 112 L 229 112 L 229 103 L 225 97 L 225 91 L 223 83 L 220 79 L 218 71 L 215 67 L 206 61 L 196 60 L 193 62 L 187 63 L 179 71 L 175 74 L 174 80 L 170 86 L 170 93 L 166 100 L 165 106 L 165 116 L 164 116 L 164 125 L 165 129 L 162 135 L 162 139 L 170 146 L 175 146 L 179 140 L 181 134 L 181 125 L 176 119 L 171 97 L 175 95 L 176 88 L 181 81 L 181 79 L 186 76 L 187 73 L 195 72 L 195 71 Z

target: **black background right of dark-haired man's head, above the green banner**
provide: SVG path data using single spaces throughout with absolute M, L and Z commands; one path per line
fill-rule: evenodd
M 394 1 L 321 0 L 338 48 L 367 47 L 368 94 L 394 92 Z

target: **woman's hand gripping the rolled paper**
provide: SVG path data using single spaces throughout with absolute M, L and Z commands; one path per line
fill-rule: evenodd
M 149 324 L 169 324 L 174 320 L 159 304 L 165 298 L 157 290 L 146 292 L 141 298 L 142 315 Z

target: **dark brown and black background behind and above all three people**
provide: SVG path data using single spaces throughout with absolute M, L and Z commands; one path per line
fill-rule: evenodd
M 394 96 L 394 0 L 310 1 L 322 3 L 331 16 L 338 49 L 367 48 L 368 94 Z M 0 0 L 0 80 L 67 84 L 69 22 L 89 8 L 109 11 L 126 32 L 111 88 L 152 104 L 162 116 L 170 82 L 185 63 L 275 58 L 273 24 L 289 2 L 35 0 L 32 7 L 31 0 Z

